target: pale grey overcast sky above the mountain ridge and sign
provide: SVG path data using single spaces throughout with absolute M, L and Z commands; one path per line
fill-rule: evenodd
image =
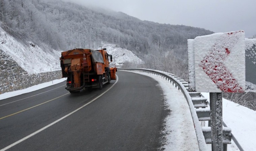
M 256 34 L 255 0 L 65 0 L 122 11 L 141 20 L 183 24 L 219 32 Z

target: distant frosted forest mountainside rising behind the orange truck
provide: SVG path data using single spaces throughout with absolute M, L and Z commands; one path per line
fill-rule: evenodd
M 48 20 L 58 24 L 70 48 L 112 43 L 136 54 L 147 54 L 148 49 L 173 49 L 176 45 L 186 45 L 187 39 L 213 33 L 200 28 L 141 21 L 122 12 L 62 1 L 39 0 L 34 5 Z

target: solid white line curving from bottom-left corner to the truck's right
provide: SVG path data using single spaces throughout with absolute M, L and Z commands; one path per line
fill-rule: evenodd
M 67 115 L 65 115 L 65 116 L 63 116 L 63 117 L 61 117 L 60 119 L 57 119 L 56 121 L 52 122 L 51 124 L 46 125 L 45 127 L 43 127 L 43 128 L 41 128 L 40 130 L 37 130 L 36 132 L 34 132 L 34 133 L 32 133 L 32 134 L 30 134 L 30 135 L 24 137 L 23 139 L 20 139 L 19 141 L 15 142 L 15 143 L 12 143 L 11 145 L 9 145 L 9 146 L 7 146 L 7 147 L 1 149 L 0 151 L 5 151 L 5 150 L 7 150 L 7 149 L 9 149 L 9 148 L 11 148 L 11 147 L 13 147 L 13 146 L 15 146 L 15 145 L 21 143 L 21 142 L 27 140 L 28 138 L 30 138 L 30 137 L 36 135 L 37 133 L 39 133 L 39 132 L 41 132 L 41 131 L 43 131 L 43 130 L 49 128 L 49 127 L 52 126 L 53 124 L 55 124 L 55 123 L 61 121 L 62 119 L 68 117 L 69 115 L 71 115 L 71 114 L 77 112 L 78 110 L 84 108 L 84 107 L 87 106 L 88 104 L 90 104 L 90 103 L 92 103 L 93 101 L 97 100 L 99 97 L 101 97 L 103 94 L 105 94 L 107 91 L 109 91 L 111 88 L 114 87 L 114 85 L 118 82 L 118 76 L 116 75 L 116 77 L 117 77 L 116 82 L 115 82 L 110 88 L 108 88 L 105 92 L 103 92 L 101 95 L 97 96 L 96 98 L 94 98 L 94 99 L 91 100 L 90 102 L 86 103 L 85 105 L 79 107 L 78 109 L 74 110 L 73 112 L 71 112 L 71 113 L 69 113 L 69 114 L 67 114 Z

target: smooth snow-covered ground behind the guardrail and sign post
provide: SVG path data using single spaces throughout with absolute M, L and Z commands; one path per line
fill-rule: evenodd
M 202 93 L 210 100 L 209 93 Z M 222 99 L 223 121 L 244 150 L 256 149 L 256 111 Z M 232 142 L 233 143 L 233 142 Z

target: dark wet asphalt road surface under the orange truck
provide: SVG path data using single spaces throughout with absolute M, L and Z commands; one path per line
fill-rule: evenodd
M 62 82 L 0 100 L 0 149 L 62 118 L 113 86 L 92 103 L 8 150 L 159 150 L 167 114 L 161 88 L 144 75 L 124 71 L 117 75 L 118 82 L 113 86 L 116 81 L 112 80 L 102 90 L 69 94 L 66 82 Z

